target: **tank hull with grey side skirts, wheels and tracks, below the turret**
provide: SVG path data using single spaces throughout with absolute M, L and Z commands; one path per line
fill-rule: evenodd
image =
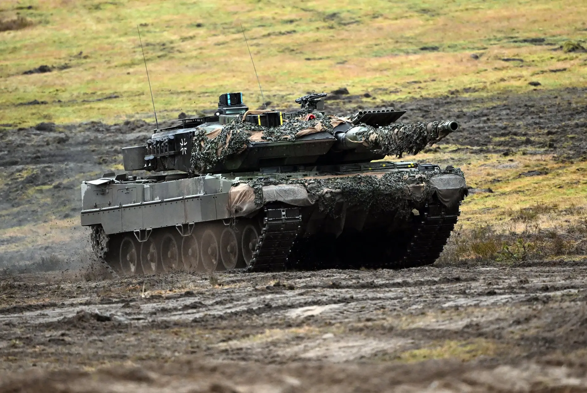
M 85 182 L 82 225 L 126 275 L 414 267 L 440 255 L 467 192 L 459 170 L 414 162 L 291 169 Z

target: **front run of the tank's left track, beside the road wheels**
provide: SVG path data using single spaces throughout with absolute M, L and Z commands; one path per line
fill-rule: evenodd
M 255 246 L 251 272 L 282 272 L 302 224 L 299 208 L 269 206 L 265 208 L 261 236 Z

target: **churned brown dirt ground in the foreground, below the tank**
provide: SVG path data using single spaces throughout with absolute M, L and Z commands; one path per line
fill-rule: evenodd
M 65 391 L 121 384 L 144 391 L 587 391 L 586 279 L 587 267 L 562 262 L 92 282 L 15 276 L 0 283 L 1 367 L 125 364 L 91 377 L 49 374 L 68 380 Z M 36 382 L 14 383 L 0 384 L 0 392 L 34 390 Z

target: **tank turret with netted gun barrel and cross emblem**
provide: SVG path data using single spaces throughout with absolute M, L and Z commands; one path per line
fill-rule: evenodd
M 299 97 L 300 110 L 281 112 L 249 110 L 242 93 L 222 94 L 214 116 L 181 119 L 155 130 L 146 145 L 124 148 L 124 168 L 197 175 L 352 164 L 416 154 L 458 129 L 456 121 L 394 123 L 406 111 L 393 109 L 326 116 L 325 97 Z

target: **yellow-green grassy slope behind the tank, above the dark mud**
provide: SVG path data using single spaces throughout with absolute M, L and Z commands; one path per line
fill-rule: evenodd
M 176 118 L 227 91 L 261 104 L 240 23 L 272 106 L 342 86 L 372 106 L 585 86 L 587 54 L 557 49 L 585 42 L 586 14 L 583 0 L 4 0 L 0 21 L 25 23 L 0 31 L 0 123 L 152 117 L 137 24 L 160 117 Z

